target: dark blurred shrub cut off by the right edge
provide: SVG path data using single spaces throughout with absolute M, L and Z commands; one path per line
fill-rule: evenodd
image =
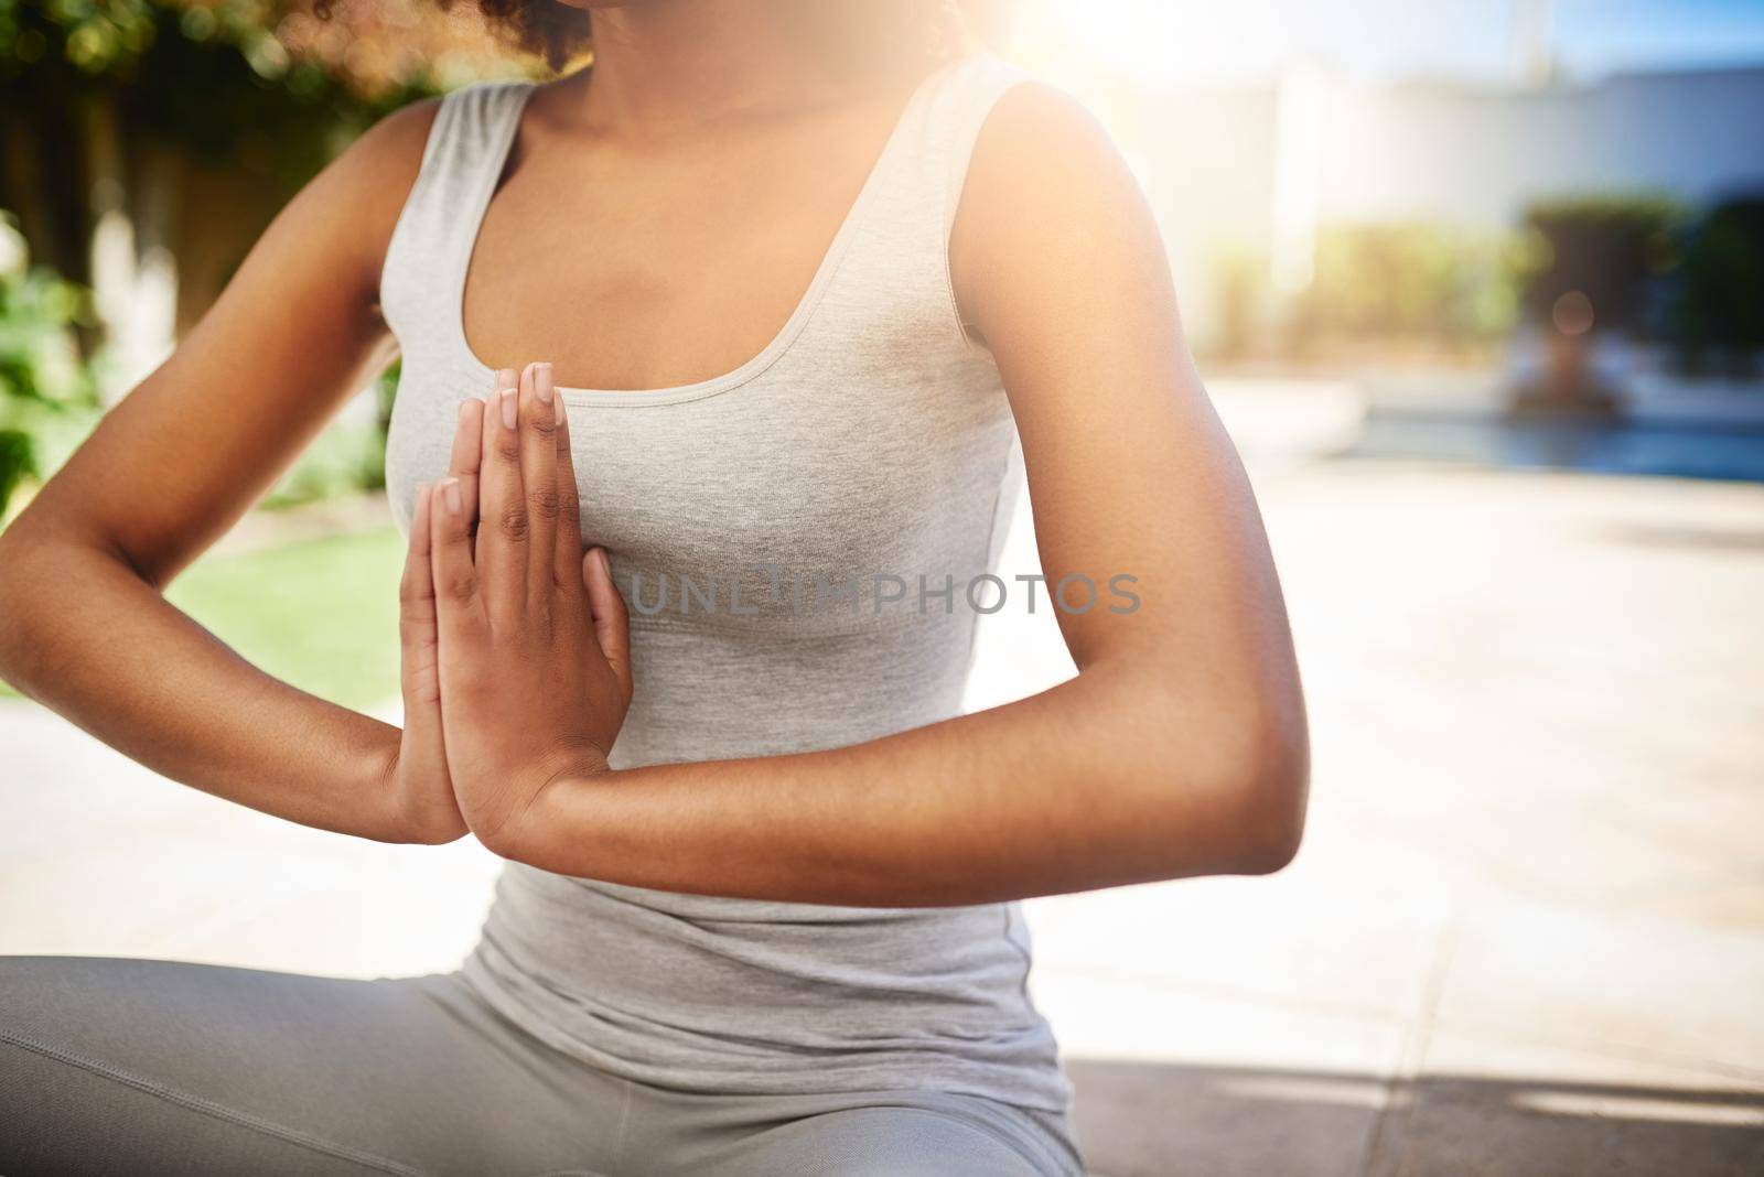
M 1667 322 L 1688 372 L 1757 372 L 1764 352 L 1764 197 L 1718 204 L 1688 233 Z

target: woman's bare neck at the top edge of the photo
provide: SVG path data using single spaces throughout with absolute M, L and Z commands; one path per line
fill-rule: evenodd
M 896 0 L 880 0 L 886 5 Z M 848 4 L 831 0 L 640 0 L 594 7 L 594 65 L 584 116 L 609 129 L 660 132 L 753 109 L 834 100 L 854 81 L 901 72 L 861 69 L 831 51 Z M 900 65 L 910 67 L 907 58 Z

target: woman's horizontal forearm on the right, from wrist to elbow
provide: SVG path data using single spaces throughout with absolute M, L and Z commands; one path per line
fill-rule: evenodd
M 1184 703 L 1097 668 L 799 756 L 563 777 L 501 853 L 658 890 L 850 906 L 1261 872 L 1297 846 L 1302 710 Z

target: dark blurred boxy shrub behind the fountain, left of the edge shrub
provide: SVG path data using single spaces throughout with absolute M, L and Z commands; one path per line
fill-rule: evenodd
M 1591 196 L 1538 201 L 1526 210 L 1524 308 L 1549 322 L 1558 303 L 1581 294 L 1593 326 L 1646 335 L 1653 280 L 1672 268 L 1672 234 L 1685 210 L 1663 196 Z

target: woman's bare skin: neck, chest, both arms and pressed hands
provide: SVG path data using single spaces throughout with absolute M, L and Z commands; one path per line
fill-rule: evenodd
M 379 268 L 429 106 L 289 204 L 0 536 L 0 675 L 240 803 L 385 840 L 469 828 L 508 858 L 616 883 L 908 906 L 1286 863 L 1307 738 L 1254 500 L 1136 185 L 1088 116 L 1039 86 L 1005 95 L 981 134 L 951 273 L 1004 375 L 1048 580 L 1132 569 L 1143 606 L 1062 613 L 1078 677 L 1007 707 L 829 752 L 607 766 L 632 691 L 624 613 L 582 557 L 545 393 L 727 372 L 790 314 L 916 78 L 829 79 L 789 14 L 596 7 L 593 78 L 529 106 L 464 307 L 499 388 L 519 386 L 517 425 L 499 389 L 467 402 L 452 477 L 420 495 L 404 731 L 263 675 L 161 588 L 385 354 Z M 526 525 L 473 543 L 475 513 Z

